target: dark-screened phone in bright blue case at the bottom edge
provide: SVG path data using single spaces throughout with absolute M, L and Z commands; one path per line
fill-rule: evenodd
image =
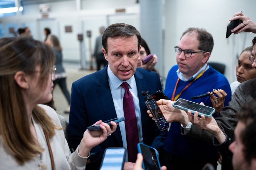
M 158 151 L 155 148 L 138 143 L 138 153 L 143 155 L 142 168 L 144 170 L 161 170 L 161 165 L 158 158 Z

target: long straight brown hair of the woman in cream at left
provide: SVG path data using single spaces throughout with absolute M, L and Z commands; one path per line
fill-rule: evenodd
M 41 68 L 41 83 L 49 79 L 50 68 L 55 62 L 50 46 L 29 37 L 18 38 L 0 47 L 0 135 L 6 149 L 23 165 L 33 159 L 43 148 L 34 140 L 30 132 L 27 110 L 21 87 L 14 75 L 22 71 L 34 76 L 36 67 Z M 34 120 L 51 138 L 58 129 L 45 113 L 36 106 L 32 115 Z

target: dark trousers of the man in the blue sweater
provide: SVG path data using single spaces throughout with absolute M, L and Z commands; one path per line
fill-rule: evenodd
M 164 149 L 163 149 L 164 150 Z M 210 163 L 217 169 L 217 160 L 216 159 L 200 159 L 200 160 L 193 160 L 191 159 L 184 159 L 182 157 L 176 157 L 171 155 L 167 151 L 163 151 L 164 154 L 160 157 L 160 164 L 161 166 L 165 165 L 167 170 L 202 170 L 204 165 Z

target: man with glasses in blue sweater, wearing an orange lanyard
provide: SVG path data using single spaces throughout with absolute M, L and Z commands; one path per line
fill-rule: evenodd
M 184 98 L 213 107 L 210 98 L 217 94 L 218 98 L 214 97 L 214 107 L 220 104 L 218 100 L 223 99 L 224 106 L 228 105 L 231 99 L 228 80 L 207 64 L 213 44 L 212 35 L 204 29 L 188 28 L 182 34 L 179 44 L 174 47 L 177 65 L 170 69 L 166 79 L 165 95 L 168 98 L 172 101 Z M 191 99 L 212 90 L 210 97 Z M 226 92 L 226 97 L 222 96 L 222 90 Z M 165 158 L 162 159 L 162 165 L 166 165 L 168 169 L 202 169 L 206 163 L 211 163 L 217 168 L 218 151 L 212 143 L 183 136 L 180 129 L 181 123 L 171 123 L 164 141 Z

